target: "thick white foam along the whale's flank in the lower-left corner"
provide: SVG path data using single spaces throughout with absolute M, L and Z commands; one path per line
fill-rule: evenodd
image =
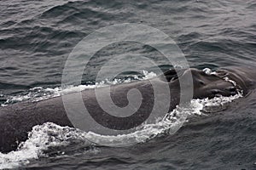
M 28 139 L 21 143 L 16 151 L 11 151 L 8 154 L 0 152 L 0 169 L 20 167 L 29 163 L 29 160 L 45 156 L 44 150 L 49 147 L 65 146 L 73 140 L 83 140 L 89 146 L 90 142 L 86 140 L 84 134 L 86 133 L 79 129 L 61 127 L 51 122 L 32 127 Z

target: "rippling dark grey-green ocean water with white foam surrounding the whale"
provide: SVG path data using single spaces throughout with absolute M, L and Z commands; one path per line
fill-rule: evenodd
M 138 23 L 165 32 L 191 67 L 256 65 L 253 0 L 9 0 L 1 1 L 0 9 L 2 105 L 60 95 L 61 74 L 73 48 L 91 32 L 114 24 Z M 171 66 L 153 48 L 117 42 L 102 48 L 86 67 L 84 86 L 69 90 L 95 88 L 94 77 L 106 59 L 131 52 L 154 59 L 162 69 Z M 155 76 L 150 68 L 139 77 L 128 72 L 108 83 Z M 245 97 L 193 100 L 189 110 L 177 111 L 189 115 L 177 133 L 166 133 L 174 126 L 170 122 L 112 137 L 50 122 L 38 125 L 19 150 L 0 153 L 0 168 L 256 169 L 255 97 L 252 91 Z M 209 105 L 213 111 L 207 111 Z

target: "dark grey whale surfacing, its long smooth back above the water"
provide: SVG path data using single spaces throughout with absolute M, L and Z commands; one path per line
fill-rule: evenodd
M 250 93 L 250 89 L 255 88 L 255 73 L 252 68 L 224 68 L 218 69 L 215 74 L 209 74 L 206 71 L 195 68 L 180 69 L 178 71 L 171 69 L 150 80 L 156 82 L 156 84 L 166 84 L 170 88 L 172 99 L 170 99 L 171 104 L 168 106 L 168 111 L 172 111 L 179 104 L 181 96 L 179 79 L 180 77 L 186 77 L 189 73 L 193 78 L 193 99 L 211 99 L 220 95 L 231 96 L 238 94 L 239 91 L 242 91 L 243 95 L 246 96 Z M 123 117 L 123 119 L 109 117 L 102 110 L 97 103 L 94 89 L 85 89 L 80 93 L 82 94 L 84 105 L 92 113 L 90 115 L 94 116 L 102 126 L 124 130 L 143 123 L 143 120 L 148 117 L 147 113 L 152 111 L 154 90 L 150 86 L 150 81 L 129 82 L 114 85 L 111 88 L 110 95 L 113 103 L 119 107 L 128 105 L 129 101 L 125 96 L 129 90 L 137 88 L 141 92 L 143 101 L 137 110 L 137 114 Z M 102 89 L 104 90 L 104 88 Z M 19 144 L 28 139 L 28 133 L 32 131 L 32 127 L 45 122 L 74 127 L 67 116 L 60 96 L 35 102 L 24 101 L 0 107 L 0 151 L 8 153 L 9 151 L 17 150 Z

